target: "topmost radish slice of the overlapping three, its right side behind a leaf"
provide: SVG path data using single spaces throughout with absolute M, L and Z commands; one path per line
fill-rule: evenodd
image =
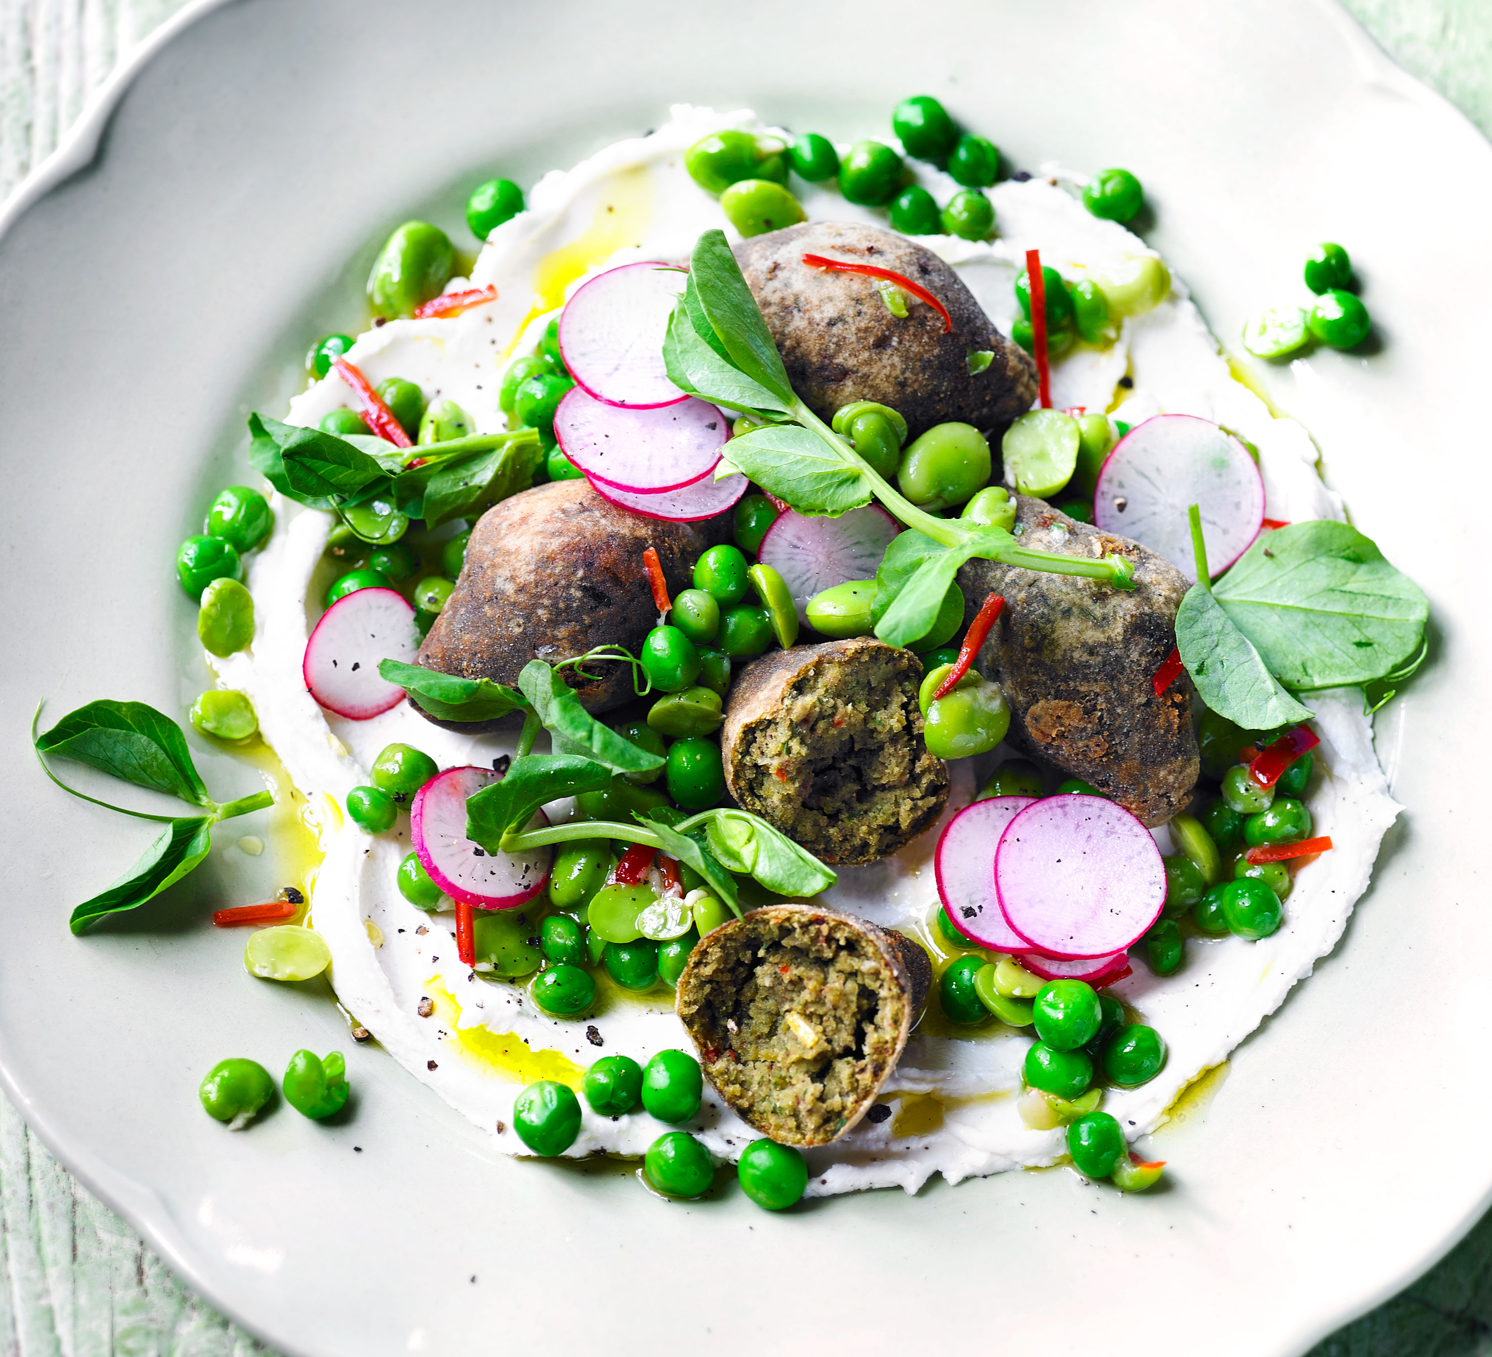
M 597 400 L 655 409 L 683 400 L 662 361 L 673 303 L 686 275 L 648 261 L 607 269 L 576 290 L 560 313 L 560 352 Z

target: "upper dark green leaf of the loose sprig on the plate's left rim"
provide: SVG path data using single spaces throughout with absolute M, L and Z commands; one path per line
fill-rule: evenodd
M 76 758 L 136 787 L 216 809 L 191 760 L 182 729 L 143 702 L 90 702 L 37 736 L 36 751 L 54 758 Z

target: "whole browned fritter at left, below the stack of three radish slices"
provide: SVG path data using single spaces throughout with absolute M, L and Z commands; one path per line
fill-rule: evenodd
M 552 664 L 597 645 L 639 654 L 658 623 L 643 551 L 658 551 L 673 594 L 689 587 L 694 563 L 727 531 L 725 515 L 704 522 L 643 518 L 601 499 L 585 481 L 536 485 L 477 520 L 461 578 L 415 663 L 513 685 L 530 660 Z M 604 675 L 600 682 L 571 679 L 589 711 L 631 700 L 627 666 L 586 669 Z M 497 724 L 468 721 L 460 729 L 476 733 Z

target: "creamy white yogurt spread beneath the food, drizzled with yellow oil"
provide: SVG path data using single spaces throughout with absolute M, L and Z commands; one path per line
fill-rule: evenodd
M 710 227 L 736 239 L 716 200 L 685 173 L 682 152 L 707 131 L 755 125 L 750 113 L 680 106 L 653 136 L 619 142 L 568 173 L 545 176 L 530 196 L 530 209 L 492 233 L 473 269 L 471 284 L 495 285 L 497 302 L 452 319 L 392 321 L 363 334 L 351 361 L 373 382 L 403 376 L 419 382 L 427 399 L 457 400 L 477 431 L 503 428 L 497 408 L 503 367 L 513 354 L 533 348 L 567 287 L 631 258 L 685 258 Z M 921 164 L 918 170 L 938 199 L 956 190 L 935 170 Z M 1091 216 L 1059 167 L 1043 167 L 1043 176 L 1028 182 L 1001 184 L 991 197 L 998 215 L 995 240 L 937 236 L 922 243 L 959 270 L 1006 333 L 1015 316 L 1012 284 L 1028 248 L 1040 248 L 1044 263 L 1070 276 L 1147 252 L 1123 227 Z M 827 188 L 807 187 L 801 202 L 815 218 L 879 219 Z M 1116 385 L 1125 375 L 1132 379 L 1128 393 Z M 1116 396 L 1125 397 L 1113 411 L 1119 419 L 1135 422 L 1162 411 L 1201 415 L 1253 443 L 1268 517 L 1341 518 L 1340 499 L 1316 475 L 1307 433 L 1292 419 L 1273 418 L 1232 378 L 1180 281 L 1173 281 L 1170 297 L 1153 311 L 1126 319 L 1109 349 L 1079 348 L 1053 367 L 1058 406 L 1104 411 Z M 355 402 L 330 376 L 291 403 L 289 421 L 315 424 L 342 405 Z M 370 721 L 348 721 L 312 700 L 300 673 L 318 612 L 307 591 L 331 520 L 278 496 L 273 508 L 273 537 L 248 573 L 258 618 L 254 645 L 212 663 L 225 687 L 252 697 L 264 737 L 295 785 L 310 799 L 340 806 L 352 787 L 369 781 L 374 755 L 392 740 L 425 749 L 442 767 L 488 766 L 512 752 L 510 737 L 440 730 L 407 703 Z M 1319 694 L 1311 705 L 1322 745 L 1307 799 L 1317 833 L 1331 835 L 1335 849 L 1301 869 L 1285 924 L 1273 938 L 1192 940 L 1176 976 L 1159 979 L 1137 963 L 1135 973 L 1113 987 L 1170 1046 L 1155 1079 L 1107 1094 L 1106 1109 L 1131 1138 L 1159 1126 L 1180 1090 L 1226 1058 L 1310 975 L 1367 888 L 1379 840 L 1398 806 L 1374 758 L 1361 696 L 1353 690 Z M 952 775 L 949 815 L 974 791 L 968 761 L 953 764 Z M 564 814 L 567 808 L 552 809 Z M 513 1052 L 527 1054 L 522 1046 L 557 1052 L 574 1066 L 613 1052 L 646 1061 L 659 1049 L 688 1048 L 665 991 L 648 1002 L 603 1000 L 591 1017 L 562 1021 L 540 1014 L 521 985 L 476 976 L 457 958 L 454 914 L 415 909 L 395 887 L 395 869 L 409 851 L 407 820 L 401 817 L 395 832 L 379 836 L 343 824 L 325 806 L 322 820 L 340 827 L 324 837 L 327 857 L 315 884 L 312 921 L 331 946 L 339 999 L 415 1078 L 491 1132 L 501 1148 L 525 1152 L 512 1130 L 513 1097 L 522 1085 L 503 1067 L 513 1063 Z M 1156 835 L 1167 846 L 1165 830 Z M 825 903 L 915 932 L 935 946 L 935 929 L 928 929 L 938 908 L 931 869 L 935 842 L 937 827 L 888 861 L 843 869 Z M 434 1000 L 430 1017 L 418 1014 L 424 999 Z M 1061 1157 L 1062 1130 L 1029 1130 L 1016 1109 L 1028 1045 L 1029 1036 L 998 1024 L 968 1036 L 915 1035 L 883 1094 L 897 1115 L 879 1124 L 862 1121 L 834 1145 L 812 1151 L 810 1194 L 889 1185 L 915 1191 L 935 1172 L 958 1182 Z M 495 1058 L 485 1058 L 494 1052 Z M 613 1120 L 586 1108 L 570 1154 L 642 1154 L 667 1129 L 645 1112 Z M 736 1158 L 755 1138 L 709 1091 L 688 1129 L 721 1158 Z

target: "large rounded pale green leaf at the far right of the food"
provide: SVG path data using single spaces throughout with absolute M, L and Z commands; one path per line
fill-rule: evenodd
M 1356 528 L 1332 520 L 1261 533 L 1213 594 L 1288 688 L 1388 678 L 1425 640 L 1429 602 Z

